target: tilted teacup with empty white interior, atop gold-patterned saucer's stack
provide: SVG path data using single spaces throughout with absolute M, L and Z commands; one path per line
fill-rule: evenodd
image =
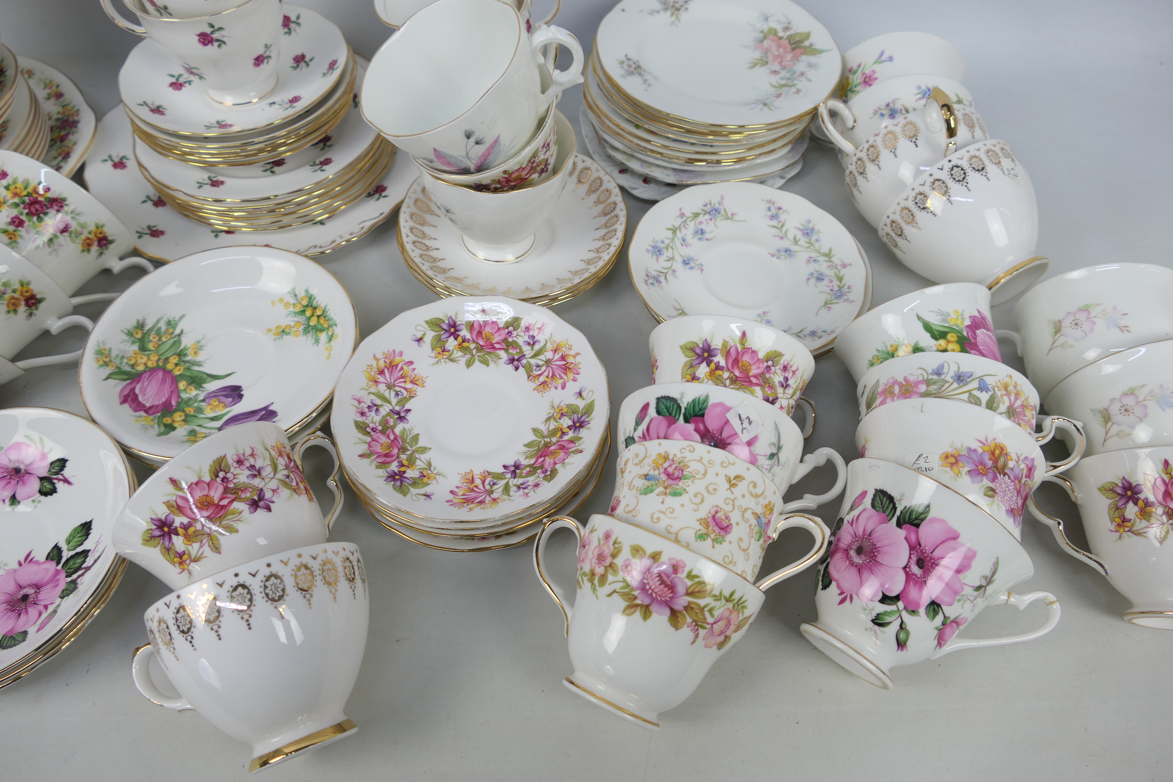
M 569 48 L 574 63 L 542 91 L 538 63 L 548 43 Z M 544 25 L 527 32 L 508 2 L 440 0 L 371 59 L 362 116 L 412 157 L 445 161 L 440 170 L 495 168 L 534 138 L 554 98 L 582 81 L 582 64 L 574 35 Z

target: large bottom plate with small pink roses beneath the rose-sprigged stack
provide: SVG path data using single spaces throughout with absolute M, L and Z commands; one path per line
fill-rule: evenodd
M 419 175 L 409 155 L 396 155 L 391 169 L 366 196 L 320 223 L 280 231 L 250 232 L 211 229 L 177 215 L 138 172 L 130 120 L 122 107 L 102 117 L 86 158 L 86 188 L 135 233 L 144 257 L 171 261 L 209 247 L 231 247 L 242 240 L 263 242 L 300 256 L 317 256 L 359 239 L 387 219 Z

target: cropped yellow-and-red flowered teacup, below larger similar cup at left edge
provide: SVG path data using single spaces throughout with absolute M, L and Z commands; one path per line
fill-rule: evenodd
M 88 297 L 87 297 L 88 298 Z M 60 334 L 70 326 L 94 331 L 94 321 L 73 314 L 73 301 L 48 274 L 20 254 L 0 245 L 0 358 L 13 359 L 41 332 Z M 81 304 L 81 301 L 79 301 Z M 81 351 L 21 361 L 21 368 L 68 363 Z M 35 363 L 34 363 L 35 361 Z

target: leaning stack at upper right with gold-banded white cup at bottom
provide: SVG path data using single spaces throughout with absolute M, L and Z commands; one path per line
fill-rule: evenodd
M 845 62 L 846 103 L 828 100 L 820 118 L 855 205 L 900 261 L 935 283 L 985 285 L 995 304 L 1042 277 L 1033 186 L 1006 142 L 989 138 L 958 81 L 961 53 L 891 33 Z

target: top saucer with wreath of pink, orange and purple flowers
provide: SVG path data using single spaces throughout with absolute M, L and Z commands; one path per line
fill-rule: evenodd
M 348 474 L 380 503 L 459 526 L 557 497 L 609 414 L 606 372 L 570 324 L 516 299 L 454 297 L 362 341 L 331 428 Z

